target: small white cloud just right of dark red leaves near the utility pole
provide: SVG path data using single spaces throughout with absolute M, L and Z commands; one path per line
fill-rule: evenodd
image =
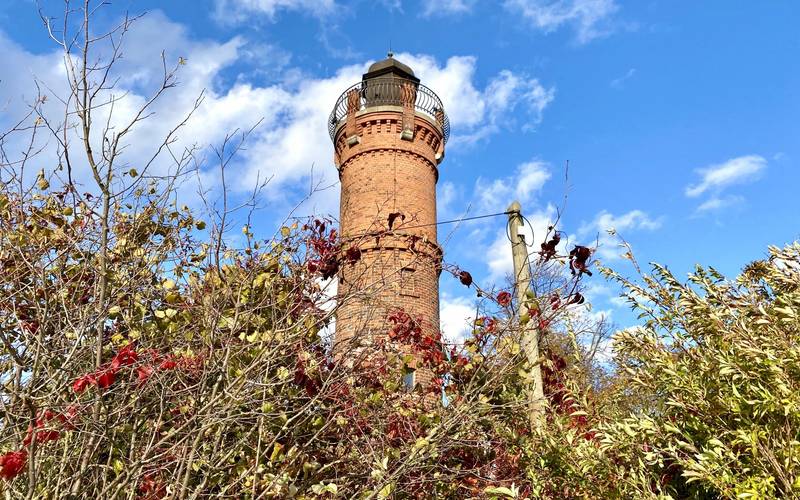
M 653 219 L 646 212 L 631 210 L 630 212 L 613 215 L 603 210 L 594 220 L 585 222 L 578 228 L 578 236 L 583 239 L 586 246 L 598 244 L 596 254 L 601 259 L 609 261 L 621 258 L 619 242 L 608 233 L 609 230 L 624 233 L 631 231 L 655 231 L 660 228 L 662 220 Z

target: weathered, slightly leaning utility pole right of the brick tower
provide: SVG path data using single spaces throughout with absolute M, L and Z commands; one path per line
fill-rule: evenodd
M 517 317 L 522 318 L 527 311 L 531 300 L 528 291 L 531 288 L 531 270 L 528 260 L 528 247 L 525 236 L 519 234 L 522 227 L 522 207 L 518 201 L 513 202 L 506 211 L 508 213 L 508 233 L 511 238 L 511 255 L 514 258 L 514 285 L 517 290 Z M 539 427 L 544 423 L 544 387 L 542 386 L 542 368 L 539 361 L 539 330 L 538 325 L 529 320 L 522 324 L 520 321 L 520 346 L 528 360 L 528 369 L 533 387 L 528 392 L 530 405 L 531 426 Z

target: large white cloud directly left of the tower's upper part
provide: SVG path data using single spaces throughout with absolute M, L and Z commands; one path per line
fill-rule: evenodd
M 223 70 L 242 57 L 250 57 L 252 50 L 263 47 L 253 49 L 241 37 L 222 43 L 196 41 L 181 25 L 158 13 L 144 18 L 131 33 L 138 38 L 129 41 L 126 51 L 128 65 L 153 68 L 153 63 L 158 61 L 156 54 L 161 50 L 161 43 L 169 47 L 172 57 L 181 55 L 188 61 L 180 75 L 178 91 L 155 108 L 157 120 L 134 132 L 130 140 L 132 144 L 157 141 L 181 119 L 195 96 L 205 89 L 203 105 L 180 132 L 183 143 L 219 144 L 225 134 L 247 129 L 261 121 L 246 147 L 231 164 L 229 188 L 247 192 L 257 181 L 271 179 L 266 196 L 288 206 L 304 196 L 312 184 L 336 184 L 338 176 L 331 160 L 333 147 L 326 127 L 328 113 L 339 93 L 360 78 L 363 65 L 345 66 L 331 77 L 303 79 L 296 85 L 257 86 L 247 78 L 239 78 L 232 85 L 222 86 Z M 158 36 L 152 36 L 156 33 Z M 159 40 L 159 45 L 145 41 L 153 39 Z M 142 81 L 140 75 L 137 83 L 140 87 L 148 82 Z M 123 79 L 121 85 L 125 87 L 131 82 Z M 141 98 L 140 91 L 131 94 L 127 100 L 136 104 Z M 213 167 L 209 166 L 207 180 L 216 181 Z M 309 201 L 306 211 L 335 213 L 337 204 L 338 189 L 331 189 L 317 193 Z

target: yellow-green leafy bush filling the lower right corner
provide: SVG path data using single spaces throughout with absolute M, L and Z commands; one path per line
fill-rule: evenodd
M 600 450 L 629 497 L 800 494 L 800 244 L 770 248 L 735 282 L 697 268 L 616 273 L 641 312 L 615 338 L 614 397 Z

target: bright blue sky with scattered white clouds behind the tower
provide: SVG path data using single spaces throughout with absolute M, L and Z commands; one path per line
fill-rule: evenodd
M 60 15 L 62 2 L 42 3 Z M 280 223 L 312 172 L 335 183 L 327 114 L 391 44 L 453 123 L 440 219 L 502 211 L 517 197 L 541 228 L 566 193 L 561 228 L 571 242 L 593 244 L 599 234 L 598 256 L 627 270 L 605 236 L 615 227 L 641 262 L 679 275 L 695 263 L 733 275 L 767 245 L 800 237 L 794 0 L 128 0 L 112 2 L 98 22 L 125 10 L 149 11 L 120 72 L 132 99 L 152 89 L 161 50 L 188 60 L 182 86 L 137 144 L 174 123 L 202 89 L 206 102 L 183 140 L 214 143 L 264 118 L 231 186 L 243 196 L 272 176 L 257 231 Z M 0 77 L 5 125 L 32 97 L 33 79 L 57 81 L 62 64 L 33 2 L 0 0 L 0 54 L 14 67 Z M 136 148 L 129 154 L 135 164 Z M 209 170 L 207 185 L 214 178 Z M 337 189 L 301 211 L 336 213 Z M 510 266 L 502 231 L 502 219 L 459 226 L 446 260 L 502 283 Z M 595 312 L 632 324 L 615 289 L 594 280 Z M 447 276 L 442 292 L 452 330 L 472 297 Z

